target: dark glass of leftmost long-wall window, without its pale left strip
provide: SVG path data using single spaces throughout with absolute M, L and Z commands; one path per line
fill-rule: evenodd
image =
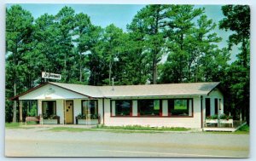
M 115 101 L 115 115 L 129 116 L 131 111 L 131 101 Z

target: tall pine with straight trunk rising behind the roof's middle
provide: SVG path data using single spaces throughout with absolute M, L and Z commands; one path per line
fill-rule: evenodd
M 161 49 L 165 43 L 163 29 L 166 25 L 167 5 L 147 5 L 133 18 L 128 29 L 131 32 L 140 31 L 147 47 L 143 52 L 148 53 L 151 61 L 151 75 L 153 83 L 157 81 L 157 63 L 161 60 Z

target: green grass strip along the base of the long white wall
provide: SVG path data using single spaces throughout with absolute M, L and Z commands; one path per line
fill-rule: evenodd
M 188 131 L 189 129 L 187 128 L 179 128 L 179 127 L 175 127 L 175 128 L 167 128 L 167 127 L 161 127 L 161 128 L 157 128 L 157 127 L 144 127 L 144 126 L 140 126 L 140 125 L 128 125 L 128 126 L 102 126 L 102 125 L 98 125 L 96 127 L 97 129 L 129 129 L 129 130 L 152 130 L 152 131 Z

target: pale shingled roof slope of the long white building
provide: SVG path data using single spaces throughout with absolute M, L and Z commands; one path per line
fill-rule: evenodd
M 208 95 L 219 82 L 211 83 L 166 83 L 148 85 L 90 86 L 73 83 L 53 83 L 91 97 L 137 97 L 166 95 Z

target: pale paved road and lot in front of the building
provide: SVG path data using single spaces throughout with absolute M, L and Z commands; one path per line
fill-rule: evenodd
M 6 129 L 7 157 L 247 158 L 249 135 Z

